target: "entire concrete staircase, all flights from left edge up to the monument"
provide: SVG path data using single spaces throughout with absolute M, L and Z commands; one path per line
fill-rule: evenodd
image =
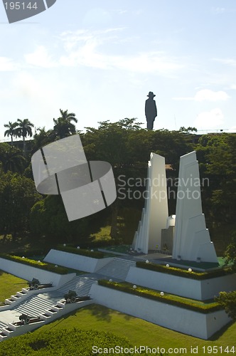
M 102 276 L 124 281 L 127 278 L 129 268 L 135 265 L 135 261 L 115 257 L 95 273 L 75 276 L 56 290 L 42 290 L 40 293 L 31 294 L 31 291 L 27 288 L 23 288 L 21 292 L 17 292 L 16 295 L 11 295 L 11 298 L 5 301 L 10 309 L 4 309 L 6 311 L 2 313 L 7 313 L 7 315 L 2 314 L 2 320 L 0 315 L 0 341 L 6 340 L 8 337 L 14 335 L 26 333 L 27 330 L 30 331 L 33 330 L 33 328 L 38 328 L 44 323 L 50 322 L 50 320 L 55 320 L 55 318 L 60 317 L 63 313 L 68 313 L 69 310 L 78 308 L 77 305 L 72 303 L 66 305 L 66 310 L 68 311 L 65 311 L 63 299 L 65 293 L 68 293 L 69 290 L 75 290 L 80 297 L 90 295 L 92 285 L 97 283 L 97 280 L 102 278 Z M 90 303 L 91 302 L 92 300 Z M 79 303 L 87 303 L 87 301 Z M 80 304 L 80 306 L 82 305 Z M 23 325 L 23 328 L 16 326 L 15 321 L 18 321 L 18 316 L 21 314 L 26 314 L 31 318 L 39 318 L 38 320 L 40 321 L 38 323 L 40 323 L 40 325 L 34 327 L 31 324 L 27 324 Z M 31 328 L 31 326 L 33 326 L 33 328 Z

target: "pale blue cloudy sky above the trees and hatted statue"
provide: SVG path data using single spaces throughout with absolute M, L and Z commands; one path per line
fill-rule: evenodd
M 156 94 L 154 129 L 236 131 L 235 0 L 57 0 L 7 22 L 0 4 L 0 140 L 4 123 L 77 129 L 137 117 Z

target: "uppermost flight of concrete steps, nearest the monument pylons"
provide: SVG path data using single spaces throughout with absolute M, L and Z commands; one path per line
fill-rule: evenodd
M 135 261 L 131 261 L 126 258 L 115 257 L 112 261 L 100 268 L 100 270 L 98 270 L 96 273 L 125 281 L 129 272 L 129 268 L 135 266 Z

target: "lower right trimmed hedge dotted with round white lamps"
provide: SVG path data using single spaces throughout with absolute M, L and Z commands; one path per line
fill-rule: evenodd
M 131 283 L 127 282 L 110 282 L 107 280 L 100 280 L 98 281 L 100 286 L 112 288 L 115 290 L 120 290 L 124 293 L 139 295 L 139 297 L 148 298 L 151 300 L 156 300 L 161 303 L 166 303 L 170 305 L 175 305 L 176 307 L 186 308 L 189 310 L 193 310 L 198 313 L 208 314 L 212 313 L 215 310 L 222 310 L 222 307 L 219 303 L 202 303 L 198 302 L 198 300 L 191 300 L 188 298 L 178 297 L 178 295 L 172 294 L 164 294 L 160 295 L 159 290 L 153 290 L 149 288 L 139 287 L 137 286 L 136 289 L 133 288 Z M 199 304 L 198 304 L 199 303 Z

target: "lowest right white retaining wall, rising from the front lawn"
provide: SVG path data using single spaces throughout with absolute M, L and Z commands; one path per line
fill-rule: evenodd
M 204 340 L 208 340 L 230 322 L 224 310 L 210 314 L 197 313 L 97 284 L 92 286 L 90 296 L 94 298 L 95 303 L 107 308 Z

